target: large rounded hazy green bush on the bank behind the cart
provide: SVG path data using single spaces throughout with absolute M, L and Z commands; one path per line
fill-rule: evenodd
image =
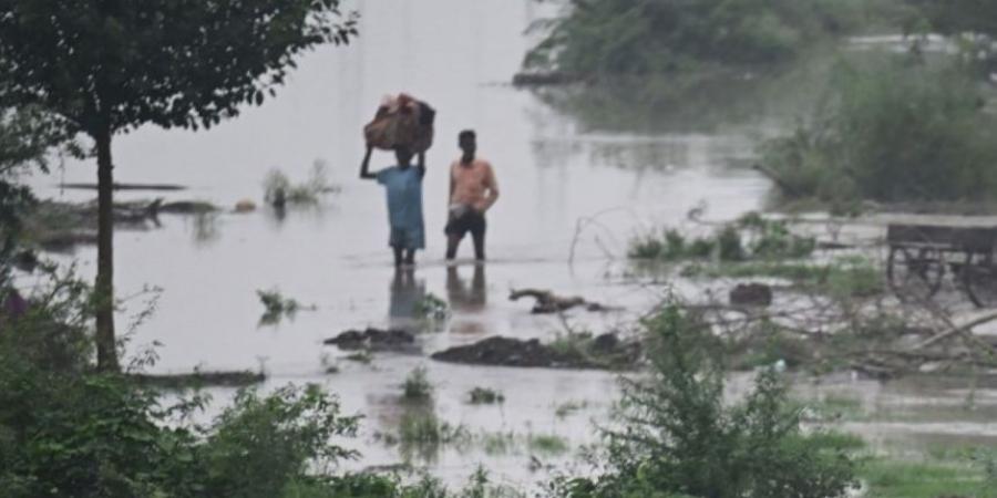
M 997 132 L 977 83 L 954 66 L 841 64 L 825 103 L 761 147 L 788 199 L 979 201 L 997 194 Z

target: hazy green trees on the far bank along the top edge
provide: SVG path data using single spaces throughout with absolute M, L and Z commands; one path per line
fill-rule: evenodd
M 545 24 L 526 68 L 574 74 L 647 74 L 757 66 L 903 15 L 895 1 L 604 0 L 572 2 Z M 874 21 L 873 21 L 874 22 Z M 887 21 L 891 22 L 891 21 Z

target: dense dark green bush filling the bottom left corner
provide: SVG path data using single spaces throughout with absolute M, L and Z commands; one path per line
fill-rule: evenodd
M 54 273 L 54 270 L 49 270 Z M 353 454 L 330 443 L 356 418 L 316 386 L 243 391 L 207 427 L 120 374 L 95 373 L 91 292 L 59 276 L 0 329 L 4 498 L 279 497 L 309 465 Z

